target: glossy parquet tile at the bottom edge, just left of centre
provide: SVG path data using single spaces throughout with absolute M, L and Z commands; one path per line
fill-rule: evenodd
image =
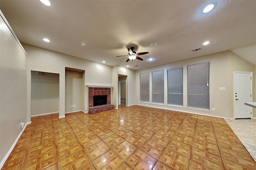
M 123 160 L 112 150 L 109 150 L 92 162 L 96 170 L 115 170 Z

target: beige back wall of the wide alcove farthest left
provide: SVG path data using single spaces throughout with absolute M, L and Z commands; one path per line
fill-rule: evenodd
M 59 74 L 31 71 L 31 116 L 59 111 Z

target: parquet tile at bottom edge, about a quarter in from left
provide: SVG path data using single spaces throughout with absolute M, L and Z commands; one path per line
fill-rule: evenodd
M 59 170 L 74 170 L 82 168 L 83 166 L 86 166 L 88 163 L 90 163 L 89 158 L 86 156 L 83 150 L 80 150 L 63 160 L 58 161 L 58 168 Z

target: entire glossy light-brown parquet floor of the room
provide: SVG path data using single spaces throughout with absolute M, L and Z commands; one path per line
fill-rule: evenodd
M 2 170 L 256 170 L 221 118 L 143 106 L 32 117 Z

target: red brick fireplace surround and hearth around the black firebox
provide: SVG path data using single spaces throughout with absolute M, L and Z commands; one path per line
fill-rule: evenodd
M 101 106 L 93 105 L 93 96 L 107 96 L 107 104 Z M 114 105 L 111 104 L 111 87 L 94 87 L 88 86 L 88 102 L 89 113 L 98 113 L 101 111 L 107 111 L 114 109 Z

